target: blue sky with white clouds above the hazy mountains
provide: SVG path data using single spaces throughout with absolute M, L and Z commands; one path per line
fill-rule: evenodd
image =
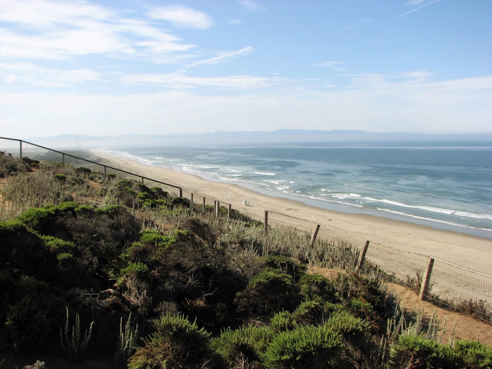
M 0 136 L 492 132 L 491 0 L 0 0 Z

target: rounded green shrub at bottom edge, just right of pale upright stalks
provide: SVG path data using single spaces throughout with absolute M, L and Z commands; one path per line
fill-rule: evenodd
M 129 359 L 129 369 L 203 368 L 214 359 L 210 334 L 182 315 L 154 320 L 155 332 Z

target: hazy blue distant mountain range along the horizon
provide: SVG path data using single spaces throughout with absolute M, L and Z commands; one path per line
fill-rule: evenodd
M 341 142 L 403 142 L 403 141 L 492 141 L 488 134 L 447 134 L 390 132 L 361 130 L 278 129 L 276 131 L 217 131 L 214 133 L 180 134 L 124 134 L 92 136 L 66 134 L 52 137 L 31 137 L 26 141 L 51 148 L 108 148 L 117 146 L 195 146 L 195 145 L 251 145 L 270 143 L 341 143 Z

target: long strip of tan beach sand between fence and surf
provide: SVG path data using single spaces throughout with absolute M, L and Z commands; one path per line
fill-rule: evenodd
M 431 255 L 484 274 L 492 274 L 492 240 L 490 239 L 380 216 L 329 211 L 298 201 L 260 194 L 236 184 L 207 181 L 192 174 L 140 164 L 97 150 L 91 151 L 101 157 L 103 163 L 107 165 L 173 184 L 221 203 L 231 204 L 233 209 L 257 220 L 264 219 L 265 211 L 275 211 L 317 222 L 371 242 Z M 247 200 L 249 205 L 244 205 L 244 200 Z

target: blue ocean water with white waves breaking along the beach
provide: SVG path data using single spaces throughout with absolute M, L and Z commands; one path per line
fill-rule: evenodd
M 492 143 L 121 147 L 147 165 L 492 239 Z

